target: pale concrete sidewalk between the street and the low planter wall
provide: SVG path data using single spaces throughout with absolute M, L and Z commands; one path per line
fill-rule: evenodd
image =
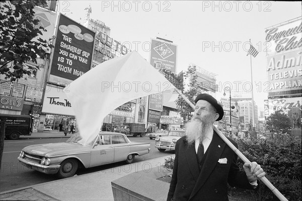
M 0 200 L 111 201 L 114 200 L 111 181 L 141 170 L 148 172 L 154 167 L 164 165 L 165 158 L 171 156 L 174 155 L 5 191 L 0 193 Z M 166 199 L 167 195 L 163 195 L 163 200 Z

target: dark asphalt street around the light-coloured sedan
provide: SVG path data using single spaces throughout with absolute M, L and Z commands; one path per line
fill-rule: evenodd
M 147 155 L 141 157 L 136 156 L 135 162 L 141 162 L 149 159 L 155 159 L 167 155 L 174 154 L 174 151 L 159 152 L 155 146 L 155 140 L 149 140 L 148 137 L 131 137 L 128 136 L 131 142 L 150 142 L 151 151 Z M 59 143 L 65 142 L 67 138 L 46 138 L 46 139 L 19 139 L 17 141 L 6 140 L 4 143 L 4 152 L 1 164 L 0 174 L 0 192 L 21 188 L 29 185 L 35 185 L 48 181 L 54 181 L 58 178 L 56 175 L 47 175 L 38 171 L 34 171 L 22 166 L 18 161 L 18 156 L 22 148 L 30 145 L 45 144 L 45 143 Z M 92 172 L 98 172 L 105 169 L 116 168 L 125 165 L 125 162 L 118 162 L 114 164 L 93 167 L 89 169 L 79 169 L 77 175 L 83 175 Z M 162 165 L 162 164 L 161 164 Z

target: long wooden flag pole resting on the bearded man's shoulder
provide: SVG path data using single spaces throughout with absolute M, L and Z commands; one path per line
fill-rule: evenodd
M 191 101 L 181 93 L 180 90 L 175 89 L 177 93 L 193 108 L 195 109 L 195 106 Z M 228 138 L 226 138 L 214 125 L 213 129 L 215 132 L 218 134 L 218 136 L 239 156 L 239 158 L 245 162 L 245 163 L 251 163 L 247 157 L 245 157 L 230 141 Z M 282 195 L 282 193 L 279 192 L 275 186 L 266 178 L 266 177 L 261 177 L 259 178 L 281 201 L 288 201 L 286 197 Z

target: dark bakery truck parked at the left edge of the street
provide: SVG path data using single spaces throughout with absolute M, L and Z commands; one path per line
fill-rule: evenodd
M 1 114 L 1 119 L 6 118 L 5 137 L 18 140 L 21 135 L 30 136 L 32 133 L 32 118 L 29 115 Z

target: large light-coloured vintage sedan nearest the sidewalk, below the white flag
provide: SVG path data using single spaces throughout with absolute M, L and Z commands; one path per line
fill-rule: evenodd
M 25 147 L 18 160 L 30 169 L 66 178 L 73 176 L 78 167 L 90 168 L 119 161 L 130 164 L 136 155 L 149 151 L 150 143 L 130 142 L 122 133 L 102 131 L 93 142 L 83 144 L 77 132 L 63 143 Z

